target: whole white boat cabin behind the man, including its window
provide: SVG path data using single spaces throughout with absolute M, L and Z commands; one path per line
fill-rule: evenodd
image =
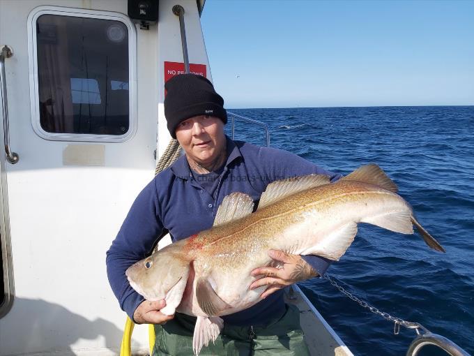
M 0 355 L 119 354 L 105 252 L 170 141 L 177 4 L 190 71 L 212 80 L 204 0 L 0 1 Z

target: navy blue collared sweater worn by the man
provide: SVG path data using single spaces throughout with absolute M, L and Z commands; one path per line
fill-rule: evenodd
M 258 202 L 272 181 L 312 173 L 329 175 L 332 181 L 342 177 L 287 151 L 227 138 L 227 162 L 213 198 L 194 179 L 185 156 L 178 158 L 138 195 L 107 251 L 107 275 L 121 309 L 132 318 L 143 302 L 144 298 L 130 287 L 125 270 L 151 253 L 164 229 L 169 230 L 173 242 L 190 237 L 211 228 L 217 208 L 226 195 L 243 192 Z M 326 272 L 329 261 L 325 258 L 303 258 L 320 275 Z M 261 325 L 283 309 L 283 292 L 278 291 L 250 309 L 223 319 L 233 325 Z

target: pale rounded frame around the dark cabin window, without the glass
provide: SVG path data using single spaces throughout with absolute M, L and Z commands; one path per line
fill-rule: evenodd
M 36 42 L 36 21 L 41 15 L 86 17 L 113 20 L 125 24 L 128 29 L 128 131 L 123 135 L 100 135 L 91 133 L 50 133 L 40 124 L 38 90 L 38 44 Z M 125 142 L 137 132 L 137 30 L 130 18 L 122 13 L 60 6 L 38 6 L 28 16 L 28 61 L 30 82 L 31 126 L 33 131 L 45 140 L 72 142 Z

